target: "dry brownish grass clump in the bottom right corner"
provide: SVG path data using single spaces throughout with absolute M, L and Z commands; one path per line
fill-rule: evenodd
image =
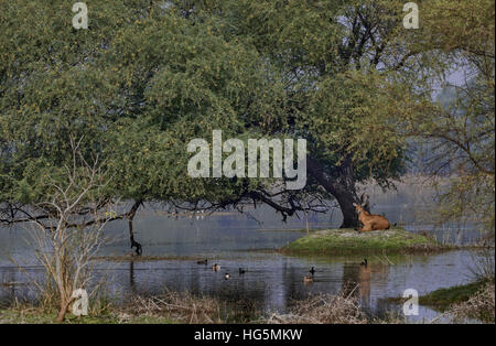
M 478 318 L 485 323 L 495 323 L 495 290 L 494 280 L 472 295 L 466 302 L 451 305 L 446 312 L 454 321 L 462 322 Z

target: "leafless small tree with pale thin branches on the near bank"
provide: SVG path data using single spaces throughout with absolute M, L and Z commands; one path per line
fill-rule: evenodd
M 62 322 L 74 301 L 73 292 L 87 289 L 93 279 L 95 253 L 104 244 L 105 224 L 115 217 L 106 197 L 109 182 L 103 163 L 88 163 L 72 142 L 72 165 L 46 176 L 44 201 L 33 208 L 46 218 L 33 219 L 36 257 L 55 286 L 58 301 L 56 321 Z

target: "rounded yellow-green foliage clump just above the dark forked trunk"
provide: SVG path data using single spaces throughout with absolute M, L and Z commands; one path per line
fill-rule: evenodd
M 349 72 L 323 78 L 302 115 L 314 152 L 332 166 L 351 153 L 358 181 L 379 183 L 401 172 L 405 139 L 398 136 L 398 111 L 388 107 L 389 90 L 378 75 Z M 330 93 L 332 90 L 332 93 Z

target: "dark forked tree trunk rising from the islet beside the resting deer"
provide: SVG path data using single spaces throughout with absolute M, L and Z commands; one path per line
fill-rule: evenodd
M 343 213 L 343 223 L 341 228 L 357 228 L 358 215 L 353 206 L 359 203 L 355 188 L 355 179 L 353 177 L 353 165 L 351 158 L 343 160 L 337 167 L 337 177 L 332 180 L 324 174 L 323 166 L 312 158 L 308 159 L 309 173 L 336 198 Z

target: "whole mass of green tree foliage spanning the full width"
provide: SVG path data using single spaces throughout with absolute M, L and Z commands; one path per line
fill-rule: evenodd
M 0 219 L 64 180 L 71 142 L 103 159 L 108 202 L 201 207 L 266 203 L 283 217 L 337 201 L 357 223 L 358 182 L 388 187 L 407 138 L 429 139 L 457 172 L 448 215 L 467 208 L 494 229 L 494 2 L 95 0 L 89 29 L 66 1 L 1 1 Z M 452 107 L 432 99 L 455 67 L 471 71 Z M 445 84 L 445 83 L 444 83 Z M 309 181 L 195 179 L 186 143 L 225 138 L 308 140 Z M 436 161 L 440 163 L 440 161 Z M 462 203 L 461 203 L 462 202 Z M 118 218 L 117 217 L 117 218 Z

